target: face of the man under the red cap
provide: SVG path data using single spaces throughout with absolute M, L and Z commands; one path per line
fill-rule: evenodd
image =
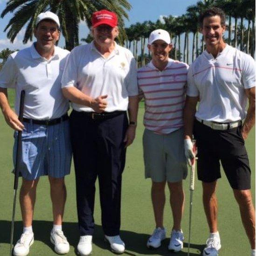
M 118 36 L 118 33 L 118 27 L 112 28 L 107 24 L 102 24 L 92 29 L 94 41 L 103 47 L 111 45 Z

